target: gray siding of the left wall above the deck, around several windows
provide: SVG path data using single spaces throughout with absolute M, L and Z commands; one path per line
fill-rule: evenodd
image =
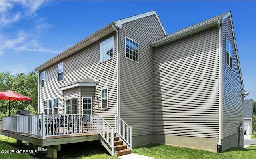
M 114 30 L 113 30 L 114 31 Z M 114 58 L 100 63 L 100 42 L 114 36 Z M 61 63 L 62 61 L 58 62 Z M 86 77 L 93 80 L 98 80 L 98 84 L 91 86 L 95 88 L 95 96 L 99 97 L 98 102 L 95 104 L 95 113 L 102 115 L 102 117 L 114 126 L 114 115 L 116 114 L 116 33 L 102 38 L 100 41 L 78 51 L 74 55 L 67 57 L 64 62 L 64 77 L 63 81 L 58 82 L 57 65 L 52 65 L 45 70 L 45 87 L 41 88 L 40 84 L 40 113 L 43 112 L 44 100 L 52 97 L 59 97 L 59 108 L 63 110 L 63 97 L 60 87 L 66 86 L 70 82 L 74 82 Z M 101 88 L 108 87 L 108 109 L 101 110 Z M 79 87 L 77 87 L 78 89 Z M 79 94 L 78 92 L 74 92 Z M 84 91 L 84 90 L 82 90 Z M 81 91 L 81 92 L 82 92 Z M 91 91 L 91 90 L 90 90 Z M 64 90 L 64 92 L 66 92 Z M 81 95 L 83 95 L 82 92 Z M 94 98 L 94 97 L 93 97 Z M 79 103 L 79 102 L 78 102 Z M 80 103 L 82 104 L 82 102 Z M 81 112 L 81 111 L 80 111 Z

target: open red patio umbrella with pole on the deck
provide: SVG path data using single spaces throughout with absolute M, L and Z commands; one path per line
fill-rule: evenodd
M 7 90 L 4 92 L 0 92 L 0 100 L 9 100 L 9 116 L 10 116 L 10 100 L 32 100 L 26 96 L 18 94 L 16 92 Z

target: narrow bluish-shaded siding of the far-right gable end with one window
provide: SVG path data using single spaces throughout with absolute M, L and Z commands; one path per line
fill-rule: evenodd
M 236 49 L 232 34 L 230 18 L 226 18 L 223 22 L 222 31 L 222 70 L 223 70 L 223 124 L 222 137 L 227 137 L 234 133 L 238 133 L 239 123 L 243 122 L 243 96 L 242 82 L 238 68 L 238 60 L 236 57 Z M 226 64 L 226 37 L 228 37 L 233 47 L 233 68 L 232 70 Z

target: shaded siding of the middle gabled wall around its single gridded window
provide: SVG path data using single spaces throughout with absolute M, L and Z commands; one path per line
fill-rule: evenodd
M 125 36 L 139 43 L 139 63 L 125 58 Z M 155 15 L 120 29 L 120 117 L 132 136 L 154 133 L 154 55 L 150 43 L 164 37 Z

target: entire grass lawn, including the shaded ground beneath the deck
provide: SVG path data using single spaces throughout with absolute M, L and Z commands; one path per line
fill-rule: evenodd
M 0 137 L 0 150 L 28 150 L 28 145 L 18 147 L 16 139 L 10 138 L 4 143 L 8 137 Z M 111 157 L 99 142 L 92 141 L 86 143 L 76 143 L 62 145 L 61 151 L 58 151 L 60 159 L 118 159 Z M 249 146 L 247 149 L 240 147 L 232 147 L 223 153 L 214 153 L 205 150 L 190 149 L 186 147 L 161 145 L 151 143 L 140 147 L 133 147 L 133 153 L 154 157 L 156 159 L 255 159 L 256 146 Z M 45 152 L 38 151 L 37 154 L 2 154 L 0 159 L 37 159 L 46 158 Z

